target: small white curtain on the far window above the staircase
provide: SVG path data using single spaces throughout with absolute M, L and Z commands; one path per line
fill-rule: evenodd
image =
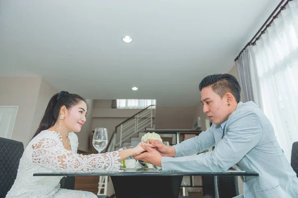
M 117 108 L 146 108 L 156 104 L 155 99 L 117 99 Z M 155 106 L 152 106 L 155 108 Z

